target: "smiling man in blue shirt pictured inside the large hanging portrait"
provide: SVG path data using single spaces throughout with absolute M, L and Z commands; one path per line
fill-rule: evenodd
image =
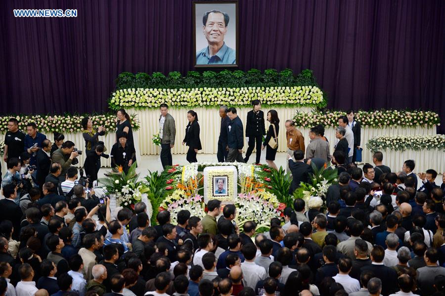
M 236 64 L 236 51 L 224 42 L 229 15 L 220 10 L 210 10 L 202 17 L 202 32 L 208 46 L 196 53 L 197 65 Z

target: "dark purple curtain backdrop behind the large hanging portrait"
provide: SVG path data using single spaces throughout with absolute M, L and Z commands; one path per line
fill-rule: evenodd
M 77 18 L 15 18 L 73 8 Z M 191 0 L 0 3 L 1 113 L 100 112 L 119 73 L 193 69 Z M 443 0 L 240 0 L 240 69 L 310 68 L 330 108 L 445 118 Z M 444 127 L 440 127 L 445 131 Z

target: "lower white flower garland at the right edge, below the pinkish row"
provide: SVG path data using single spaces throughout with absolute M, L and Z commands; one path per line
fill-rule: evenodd
M 372 152 L 380 150 L 423 151 L 437 149 L 445 152 L 445 135 L 381 135 L 370 139 L 366 147 Z

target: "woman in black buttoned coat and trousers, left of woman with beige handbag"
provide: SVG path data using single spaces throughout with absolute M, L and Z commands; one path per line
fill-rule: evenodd
M 253 100 L 252 105 L 253 110 L 250 110 L 247 113 L 246 120 L 246 140 L 249 146 L 246 151 L 244 162 L 247 163 L 249 161 L 249 157 L 252 154 L 255 144 L 257 144 L 257 158 L 255 163 L 259 164 L 261 158 L 261 142 L 263 140 L 263 135 L 266 135 L 266 128 L 264 125 L 264 112 L 260 110 L 260 100 Z

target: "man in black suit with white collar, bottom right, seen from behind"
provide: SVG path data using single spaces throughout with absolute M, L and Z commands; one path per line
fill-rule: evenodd
M 393 268 L 383 265 L 383 258 L 385 257 L 385 250 L 381 246 L 375 246 L 371 251 L 371 265 L 366 265 L 360 268 L 360 272 L 370 270 L 374 275 L 382 281 L 382 295 L 388 296 L 396 293 L 397 273 Z

